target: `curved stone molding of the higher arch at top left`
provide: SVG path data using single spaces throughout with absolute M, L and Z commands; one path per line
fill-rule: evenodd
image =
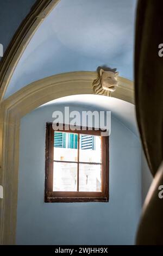
M 60 0 L 37 1 L 26 19 L 21 23 L 14 37 L 12 38 L 7 51 L 0 63 L 0 102 L 7 90 L 11 76 L 16 68 L 18 60 L 22 56 L 26 46 L 40 26 L 43 19 L 60 2 Z

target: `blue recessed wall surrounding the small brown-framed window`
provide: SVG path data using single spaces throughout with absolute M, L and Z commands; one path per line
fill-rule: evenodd
M 109 203 L 43 203 L 45 127 L 62 107 L 41 107 L 21 120 L 17 244 L 133 244 L 141 211 L 141 146 L 113 115 Z

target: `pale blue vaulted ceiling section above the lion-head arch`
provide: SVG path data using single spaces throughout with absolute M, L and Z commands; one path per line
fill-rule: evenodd
M 136 0 L 61 0 L 37 29 L 5 98 L 43 77 L 117 68 L 133 80 Z

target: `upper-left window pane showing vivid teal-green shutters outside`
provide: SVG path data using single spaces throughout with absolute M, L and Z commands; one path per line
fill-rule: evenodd
M 54 132 L 54 160 L 78 161 L 78 135 L 70 132 Z

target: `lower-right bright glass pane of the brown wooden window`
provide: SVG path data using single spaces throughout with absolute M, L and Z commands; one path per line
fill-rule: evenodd
M 101 164 L 79 164 L 79 191 L 101 192 Z

